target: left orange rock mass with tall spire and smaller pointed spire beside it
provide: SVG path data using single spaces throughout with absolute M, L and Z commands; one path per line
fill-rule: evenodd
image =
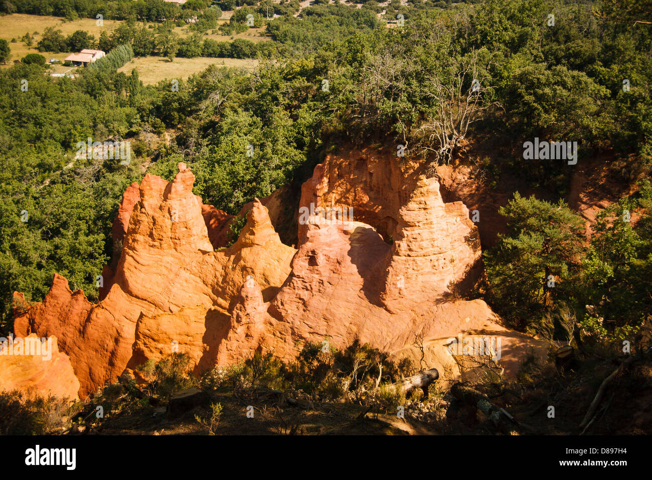
M 55 275 L 44 302 L 16 315 L 17 335 L 36 332 L 47 336 L 56 332 L 80 380 L 82 396 L 106 381 L 115 381 L 127 365 L 138 366 L 138 360 L 151 353 L 151 338 L 162 342 L 157 350 L 160 355 L 171 351 L 168 335 L 177 336 L 179 344 L 186 342 L 185 321 L 189 322 L 190 317 L 201 321 L 209 334 L 218 335 L 230 317 L 226 314 L 230 302 L 247 276 L 254 276 L 269 296 L 287 278 L 295 250 L 278 240 L 269 217 L 265 219 L 265 207 L 254 202 L 250 221 L 237 245 L 215 251 L 202 216 L 201 200 L 192 193 L 193 182 L 194 175 L 183 163 L 171 183 L 145 175 L 139 187 L 140 199 L 134 203 L 123 237 L 113 283 L 102 301 L 91 304 L 83 291 L 72 293 L 67 280 Z M 179 313 L 186 307 L 194 309 Z M 212 307 L 215 312 L 209 312 Z M 219 312 L 225 313 L 222 328 L 212 325 L 219 323 L 217 320 L 211 321 L 222 318 Z M 177 313 L 183 321 L 178 325 L 172 322 L 175 331 L 155 329 L 158 337 L 150 336 L 148 325 L 157 318 L 166 318 L 156 315 Z M 139 320 L 143 328 L 137 329 Z M 205 327 L 205 323 L 211 325 Z M 137 330 L 142 335 L 138 342 Z M 147 342 L 143 340 L 145 332 L 150 339 Z M 218 345 L 222 339 L 207 340 Z M 201 357 L 202 350 L 194 355 Z

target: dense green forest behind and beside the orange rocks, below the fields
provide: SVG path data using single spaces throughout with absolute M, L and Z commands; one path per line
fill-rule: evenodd
M 501 208 L 508 228 L 484 252 L 479 296 L 512 327 L 539 334 L 572 336 L 578 327 L 567 328 L 567 319 L 576 315 L 591 338 L 617 342 L 651 317 L 649 4 L 393 2 L 386 16 L 402 14 L 404 24 L 388 27 L 374 1 L 363 8 L 317 2 L 301 18 L 293 16 L 296 3 L 282 2 L 273 4 L 282 16 L 271 20 L 260 3 L 237 10 L 243 13 L 223 30 L 241 31 L 250 11 L 269 37 L 265 47 L 234 41 L 223 52 L 201 39 L 202 29 L 215 27 L 215 12 L 206 12 L 230 5 L 190 0 L 172 7 L 210 18 L 197 35 L 171 39 L 174 54 L 258 57 L 258 67 L 213 66 L 147 87 L 137 71 L 117 69 L 134 54 L 169 55 L 158 20 L 173 21 L 177 10 L 158 0 L 99 4 L 3 2 L 8 13 L 95 18 L 101 11 L 128 20 L 113 38 L 98 39 L 115 53 L 77 78 L 48 76 L 38 61 L 0 71 L 3 332 L 12 328 L 12 293 L 40 301 L 55 272 L 97 299 L 95 278 L 110 263 L 121 196 L 145 172 L 171 180 L 183 161 L 205 203 L 237 214 L 282 185 L 298 190 L 338 148 L 402 144 L 408 157 L 440 165 L 468 142 L 484 152 L 490 178 L 518 176 L 545 192 L 515 193 Z M 53 40 L 44 51 L 80 46 L 70 41 Z M 161 141 L 166 132 L 169 145 Z M 77 142 L 87 137 L 129 140 L 129 165 L 76 158 Z M 600 214 L 590 242 L 582 217 L 563 202 L 566 163 L 524 160 L 522 143 L 535 137 L 578 142 L 580 162 L 602 155 L 625 165 L 623 182 L 638 184 Z

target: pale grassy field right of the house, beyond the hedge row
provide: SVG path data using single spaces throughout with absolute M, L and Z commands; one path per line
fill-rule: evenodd
M 237 58 L 180 58 L 168 61 L 164 57 L 138 57 L 124 65 L 119 72 L 130 73 L 132 69 L 138 70 L 140 80 L 145 85 L 152 85 L 165 78 L 188 78 L 193 73 L 205 70 L 209 65 L 220 65 L 224 67 L 243 67 L 252 69 L 256 66 L 256 59 Z

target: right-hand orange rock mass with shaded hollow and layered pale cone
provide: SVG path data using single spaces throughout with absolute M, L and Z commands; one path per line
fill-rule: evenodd
M 299 225 L 292 272 L 269 313 L 289 322 L 300 338 L 329 339 L 336 346 L 359 338 L 417 364 L 421 352 L 413 344 L 421 338 L 428 367 L 453 370 L 455 355 L 445 347 L 451 338 L 500 338 L 502 362 L 514 374 L 514 360 L 544 346 L 509 332 L 482 300 L 456 296 L 481 273 L 477 228 L 461 202 L 443 202 L 436 179 L 409 172 L 394 159 L 353 152 L 315 168 L 301 206 L 352 205 L 353 221 Z

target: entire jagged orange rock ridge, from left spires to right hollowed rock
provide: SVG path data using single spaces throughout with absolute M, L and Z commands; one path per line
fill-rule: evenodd
M 193 182 L 180 163 L 171 183 L 148 174 L 130 185 L 98 304 L 57 275 L 44 302 L 17 313 L 16 334 L 60 339 L 80 395 L 173 351 L 200 373 L 256 350 L 293 359 L 302 342 L 355 338 L 418 360 L 419 338 L 428 367 L 454 369 L 446 345 L 464 333 L 501 338 L 514 371 L 540 346 L 482 300 L 460 300 L 482 269 L 477 229 L 461 202 L 443 202 L 435 178 L 395 157 L 353 152 L 318 165 L 302 189 L 298 249 L 282 244 L 258 199 L 237 242 L 220 248 L 230 216 L 193 195 Z

